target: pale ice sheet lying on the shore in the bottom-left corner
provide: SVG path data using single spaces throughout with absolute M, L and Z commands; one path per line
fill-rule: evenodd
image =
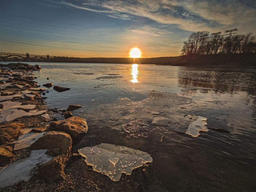
M 45 164 L 54 157 L 46 155 L 47 149 L 33 150 L 30 157 L 14 162 L 0 170 L 0 188 L 27 181 L 38 165 Z

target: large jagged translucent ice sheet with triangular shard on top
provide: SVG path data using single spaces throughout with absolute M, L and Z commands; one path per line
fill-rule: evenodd
M 133 169 L 153 162 L 146 152 L 107 143 L 84 147 L 78 152 L 94 171 L 107 175 L 113 181 L 120 180 L 122 173 L 131 175 Z

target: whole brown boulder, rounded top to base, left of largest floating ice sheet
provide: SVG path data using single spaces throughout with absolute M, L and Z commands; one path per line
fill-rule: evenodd
M 46 154 L 57 156 L 38 168 L 38 174 L 46 180 L 65 178 L 64 169 L 71 156 L 72 139 L 64 132 L 48 132 L 30 146 L 31 150 L 48 149 Z

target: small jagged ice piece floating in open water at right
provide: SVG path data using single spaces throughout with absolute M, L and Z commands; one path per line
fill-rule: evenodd
M 198 116 L 198 119 L 196 121 L 189 124 L 188 130 L 185 133 L 192 137 L 197 137 L 198 135 L 200 135 L 200 131 L 209 131 L 205 126 L 207 124 L 206 120 L 207 118 Z

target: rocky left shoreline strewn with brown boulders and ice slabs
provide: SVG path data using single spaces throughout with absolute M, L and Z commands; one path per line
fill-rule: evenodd
M 80 106 L 69 106 L 66 120 L 52 118 L 53 112 L 41 96 L 46 90 L 36 84 L 37 77 L 32 73 L 40 69 L 38 65 L 24 63 L 1 67 L 0 190 L 3 191 L 26 188 L 25 181 L 31 176 L 64 180 L 68 160 L 78 155 L 71 153 L 72 143 L 78 142 L 88 129 L 85 119 L 72 116 L 71 111 Z M 56 86 L 56 91 L 63 89 Z M 24 169 L 22 175 L 14 177 L 15 166 Z

